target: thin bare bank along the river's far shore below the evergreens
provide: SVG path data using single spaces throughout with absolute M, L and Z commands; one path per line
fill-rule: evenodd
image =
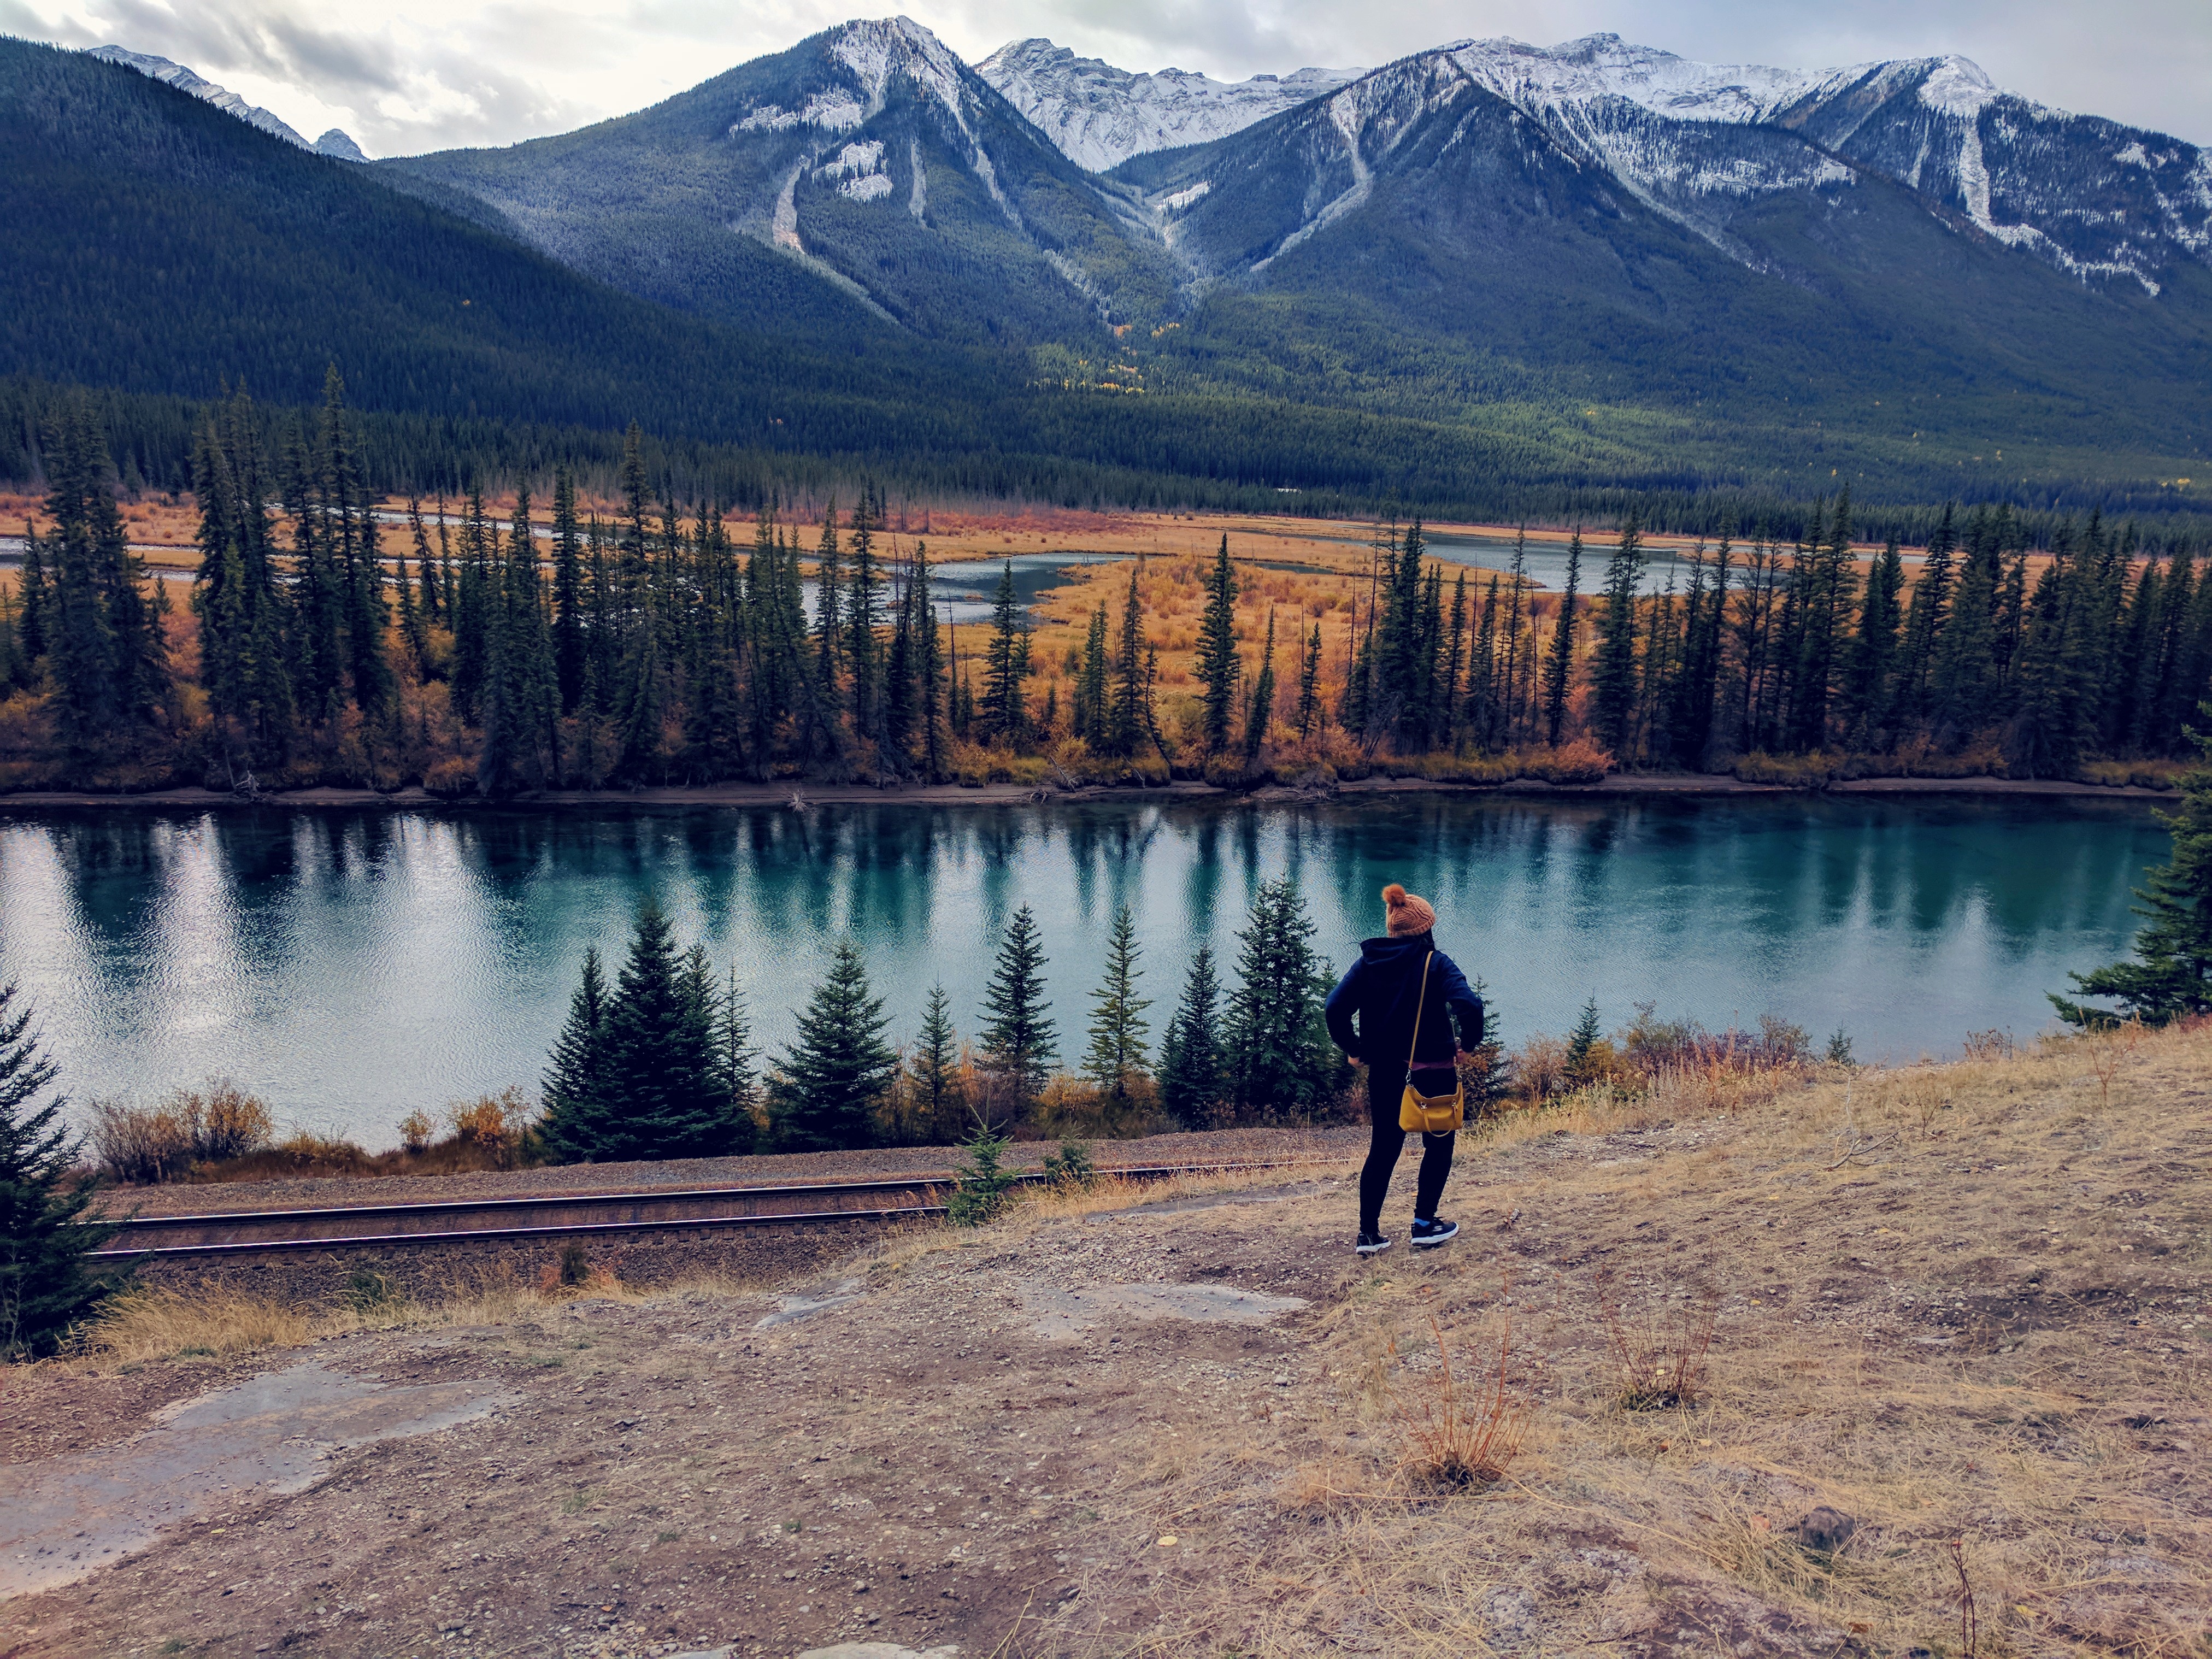
M 272 790 L 246 799 L 228 790 L 175 787 L 146 790 L 142 794 L 95 794 L 88 790 L 24 790 L 0 794 L 0 814 L 11 807 L 159 807 L 159 810 L 215 810 L 215 807 L 405 807 L 414 812 L 495 812 L 522 807 L 542 812 L 549 807 L 577 807 L 606 812 L 608 807 L 830 807 L 830 805 L 1018 805 L 1035 801 L 1323 801 L 1329 796 L 1371 794 L 1540 794 L 1566 799 L 1624 799 L 1624 796 L 1785 796 L 1785 794 L 1984 794 L 1984 796 L 2044 796 L 2073 801 L 2172 801 L 2170 790 L 2146 790 L 2132 783 L 2073 783 L 2066 779 L 1847 779 L 1836 783 L 1745 783 L 1743 779 L 1701 772 L 1648 772 L 1610 774 L 1597 783 L 1544 783 L 1542 779 L 1513 779 L 1511 783 L 1460 783 L 1451 779 L 1389 779 L 1369 776 L 1338 781 L 1325 787 L 1294 787 L 1267 783 L 1254 790 L 1230 790 L 1199 781 L 1177 781 L 1135 787 L 1077 785 L 1064 787 L 1029 783 L 916 783 L 878 787 L 872 783 L 697 783 L 637 790 L 544 790 L 538 794 L 513 794 L 500 801 L 462 794 L 431 794 L 420 785 L 407 790 Z

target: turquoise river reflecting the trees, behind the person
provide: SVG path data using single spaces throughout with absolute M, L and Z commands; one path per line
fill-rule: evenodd
M 1608 1020 L 1774 1011 L 1911 1057 L 2046 1024 L 2042 991 L 2124 949 L 2163 854 L 2141 812 L 1969 799 L 0 812 L 0 978 L 80 1099 L 228 1073 L 383 1144 L 411 1106 L 533 1084 L 584 947 L 619 953 L 648 891 L 737 967 L 770 1046 L 847 931 L 900 1033 L 940 980 L 973 1033 L 1029 902 L 1073 1062 L 1117 905 L 1157 1033 L 1192 951 L 1234 958 L 1287 872 L 1336 960 L 1385 880 L 1427 894 L 1509 1040 L 1595 993 Z

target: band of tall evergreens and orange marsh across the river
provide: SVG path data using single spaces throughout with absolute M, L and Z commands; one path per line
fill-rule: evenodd
M 204 411 L 179 604 L 133 546 L 142 504 L 93 405 L 60 407 L 44 438 L 44 511 L 0 584 L 0 799 L 24 803 L 2161 792 L 2212 692 L 2197 544 L 2097 513 L 2037 540 L 2006 504 L 1953 504 L 1907 562 L 1896 538 L 1856 542 L 1843 489 L 1787 535 L 1694 538 L 1657 593 L 1632 511 L 1568 533 L 1557 588 L 1526 533 L 1493 571 L 1438 557 L 1420 520 L 1290 560 L 1283 535 L 1239 529 L 1232 549 L 1219 522 L 1168 515 L 1161 538 L 1155 515 L 1150 551 L 1075 564 L 1037 604 L 1004 564 L 989 619 L 956 626 L 929 509 L 914 533 L 911 504 L 863 487 L 763 500 L 748 524 L 677 500 L 635 427 L 606 500 L 566 469 L 489 500 L 465 456 L 458 502 L 378 500 L 332 372 L 314 414 L 243 394 Z M 987 551 L 1055 551 L 1026 542 Z

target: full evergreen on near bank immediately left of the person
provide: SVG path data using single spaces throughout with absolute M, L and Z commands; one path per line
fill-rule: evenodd
M 1243 949 L 1223 1031 L 1230 1095 L 1245 1117 L 1312 1113 L 1343 1084 L 1321 1013 L 1334 980 L 1312 938 L 1296 883 L 1261 883 L 1237 936 Z

